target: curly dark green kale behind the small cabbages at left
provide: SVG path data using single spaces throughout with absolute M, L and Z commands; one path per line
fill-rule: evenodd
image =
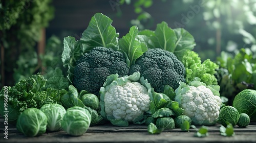
M 40 73 L 25 80 L 19 81 L 15 86 L 8 86 L 8 98 L 5 97 L 5 88 L 0 91 L 0 114 L 3 115 L 5 109 L 4 101 L 8 99 L 8 120 L 16 121 L 18 115 L 27 108 L 40 109 L 49 103 L 60 103 L 60 96 L 63 90 L 55 88 L 44 88 L 47 79 Z

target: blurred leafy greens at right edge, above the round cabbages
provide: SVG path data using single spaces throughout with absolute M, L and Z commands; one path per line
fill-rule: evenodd
M 234 96 L 244 89 L 256 89 L 256 58 L 248 48 L 240 49 L 232 55 L 222 52 L 216 62 L 220 68 L 216 77 L 221 87 L 222 96 L 232 105 Z

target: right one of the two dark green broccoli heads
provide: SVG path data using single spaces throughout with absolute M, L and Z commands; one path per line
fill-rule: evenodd
M 129 74 L 139 71 L 141 76 L 156 92 L 163 92 L 164 86 L 176 89 L 179 82 L 185 82 L 185 67 L 177 57 L 162 49 L 149 49 L 131 66 Z

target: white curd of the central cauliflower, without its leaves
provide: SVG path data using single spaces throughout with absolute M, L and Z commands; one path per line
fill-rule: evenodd
M 134 121 L 136 117 L 150 109 L 147 89 L 138 82 L 128 81 L 123 85 L 113 85 L 105 92 L 106 116 Z

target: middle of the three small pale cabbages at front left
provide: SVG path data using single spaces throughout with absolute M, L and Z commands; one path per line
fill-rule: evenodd
M 61 121 L 66 113 L 63 106 L 59 104 L 45 104 L 40 108 L 47 116 L 47 130 L 48 131 L 59 131 L 61 129 Z

